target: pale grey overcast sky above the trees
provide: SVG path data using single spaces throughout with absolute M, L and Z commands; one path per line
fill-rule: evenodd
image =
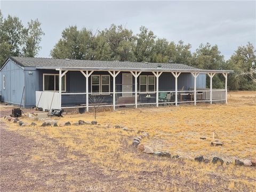
M 217 44 L 225 59 L 240 45 L 256 45 L 255 1 L 1 1 L 1 11 L 24 25 L 42 22 L 45 36 L 37 57 L 50 57 L 61 31 L 71 25 L 97 30 L 122 24 L 135 34 L 146 26 L 157 37 L 190 43 L 192 51 L 200 43 Z

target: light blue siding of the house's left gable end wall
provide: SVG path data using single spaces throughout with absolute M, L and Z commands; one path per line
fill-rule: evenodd
M 5 75 L 5 90 L 3 89 L 3 75 Z M 13 61 L 7 61 L 1 70 L 1 94 L 2 101 L 15 105 L 24 106 L 24 96 L 22 98 L 23 87 L 25 86 L 25 74 L 23 68 Z

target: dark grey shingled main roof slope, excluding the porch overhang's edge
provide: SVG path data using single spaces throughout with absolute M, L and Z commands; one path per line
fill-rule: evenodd
M 134 69 L 156 69 L 162 65 L 162 69 L 196 69 L 177 63 L 146 63 L 129 61 L 94 61 L 94 60 L 66 60 L 52 58 L 25 58 L 10 57 L 22 67 L 49 67 L 49 68 L 134 68 Z

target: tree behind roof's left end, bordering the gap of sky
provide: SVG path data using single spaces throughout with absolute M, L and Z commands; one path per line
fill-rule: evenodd
M 25 46 L 23 47 L 23 55 L 25 57 L 35 57 L 38 51 L 42 48 L 39 43 L 44 35 L 41 29 L 41 23 L 36 20 L 28 22 L 28 28 L 25 30 Z

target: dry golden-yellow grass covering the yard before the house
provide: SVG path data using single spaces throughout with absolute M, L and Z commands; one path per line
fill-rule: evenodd
M 54 166 L 58 161 L 74 162 L 58 170 L 66 174 L 66 187 L 70 191 L 256 191 L 255 167 L 178 161 L 142 154 L 131 146 L 132 139 L 141 130 L 150 135 L 142 143 L 153 147 L 155 151 L 169 151 L 172 155 L 191 158 L 203 155 L 212 159 L 218 156 L 225 162 L 234 162 L 237 158 L 255 158 L 256 92 L 229 92 L 228 96 L 228 105 L 201 103 L 197 106 L 124 108 L 100 112 L 97 114 L 100 125 L 23 127 L 6 123 L 6 129 L 44 146 L 28 151 L 29 162 L 32 164 Z M 7 109 L 1 107 L 1 110 Z M 92 121 L 93 114 L 67 114 L 57 119 L 71 123 L 79 119 Z M 30 122 L 29 119 L 22 121 Z M 107 128 L 109 124 L 111 128 Z M 115 125 L 133 131 L 115 129 Z M 222 147 L 210 146 L 213 131 L 224 143 Z M 202 136 L 206 140 L 199 139 Z M 60 150 L 58 146 L 66 150 L 62 160 L 57 155 Z M 78 161 L 79 164 L 76 164 Z M 90 163 L 95 172 L 100 170 L 106 177 L 113 178 L 113 182 L 96 177 L 92 183 L 86 178 L 88 176 L 68 171 L 79 171 L 79 167 L 83 166 L 81 161 L 84 164 Z M 45 174 L 54 173 L 48 169 L 41 171 Z M 26 168 L 21 174 L 39 179 L 38 174 Z M 1 176 L 1 180 L 7 179 Z M 44 185 L 49 189 L 57 180 L 57 177 L 49 177 L 49 180 L 45 179 Z M 75 181 L 79 180 L 83 183 L 77 185 Z M 21 182 L 21 185 L 26 183 Z M 62 187 L 55 189 L 61 191 Z M 44 188 L 39 190 L 43 191 Z

